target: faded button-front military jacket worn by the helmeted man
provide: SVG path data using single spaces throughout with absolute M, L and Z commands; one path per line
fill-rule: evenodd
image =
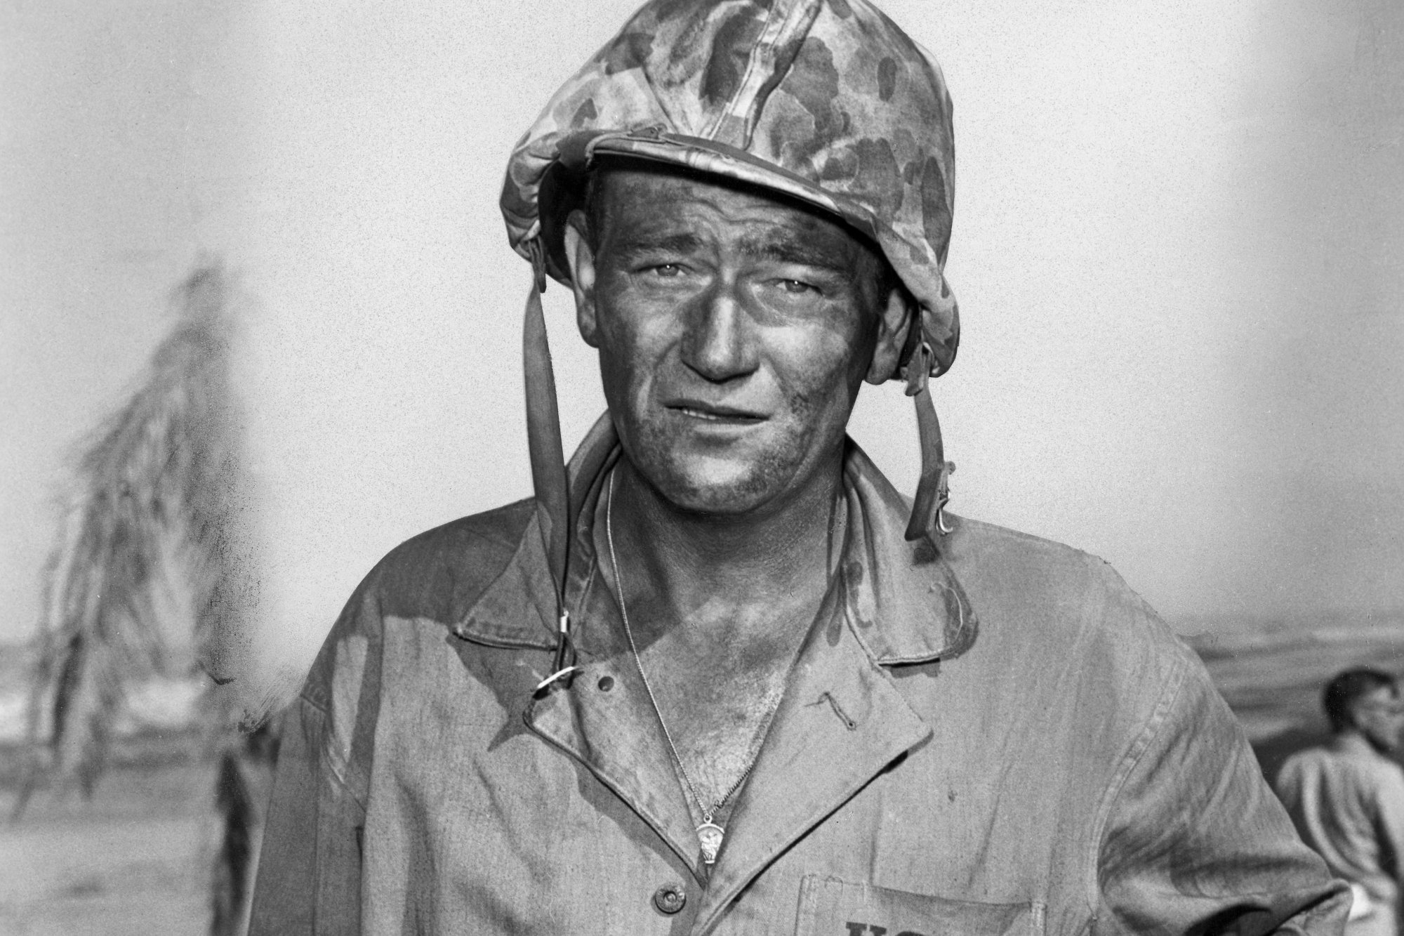
M 251 932 L 1339 932 L 1199 661 L 1101 559 L 907 502 L 849 444 L 847 534 L 716 864 L 601 569 L 601 420 L 571 462 L 580 672 L 532 502 L 355 592 L 288 713 Z M 1279 929 L 1280 928 L 1280 929 Z

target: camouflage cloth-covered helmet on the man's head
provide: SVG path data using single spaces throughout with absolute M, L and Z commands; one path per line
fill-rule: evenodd
M 931 55 L 866 0 L 646 3 L 512 150 L 508 238 L 562 282 L 564 219 L 602 155 L 688 166 L 838 215 L 882 249 L 920 309 L 908 392 L 955 360 L 942 273 L 951 97 Z

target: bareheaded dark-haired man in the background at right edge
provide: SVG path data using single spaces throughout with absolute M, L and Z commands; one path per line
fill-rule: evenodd
M 1404 728 L 1398 684 L 1377 669 L 1348 669 L 1321 696 L 1331 742 L 1292 755 L 1278 795 L 1297 832 L 1351 881 L 1345 932 L 1397 936 L 1404 883 L 1404 770 L 1390 759 Z

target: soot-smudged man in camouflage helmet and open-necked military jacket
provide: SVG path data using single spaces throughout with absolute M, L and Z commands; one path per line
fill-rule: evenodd
M 1334 932 L 1203 669 L 945 513 L 951 103 L 865 0 L 654 0 L 512 155 L 609 412 L 392 552 L 291 715 L 254 932 Z M 914 505 L 845 438 L 906 381 Z

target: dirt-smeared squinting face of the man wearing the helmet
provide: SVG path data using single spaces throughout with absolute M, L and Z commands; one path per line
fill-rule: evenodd
M 873 252 L 802 207 L 691 176 L 614 169 L 597 198 L 594 246 L 577 212 L 566 249 L 644 479 L 681 509 L 739 514 L 837 464 L 863 377 L 886 378 L 900 350 Z

